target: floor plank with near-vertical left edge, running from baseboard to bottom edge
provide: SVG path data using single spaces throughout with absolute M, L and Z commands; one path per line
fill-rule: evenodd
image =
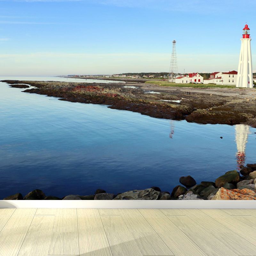
M 82 256 L 112 256 L 97 209 L 77 209 L 79 252 Z

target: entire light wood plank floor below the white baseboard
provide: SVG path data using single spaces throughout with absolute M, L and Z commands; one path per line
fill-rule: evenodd
M 256 256 L 256 210 L 0 209 L 0 256 Z

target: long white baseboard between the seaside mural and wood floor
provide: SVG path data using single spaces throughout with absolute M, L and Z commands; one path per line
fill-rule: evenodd
M 0 208 L 256 209 L 255 200 L 0 200 Z

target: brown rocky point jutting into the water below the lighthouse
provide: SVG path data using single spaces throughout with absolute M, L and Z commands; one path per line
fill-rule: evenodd
M 38 82 L 4 80 L 10 86 L 33 86 L 23 92 L 54 96 L 71 102 L 105 104 L 108 108 L 122 109 L 156 118 L 184 120 L 199 124 L 248 124 L 256 127 L 256 94 L 253 100 L 243 97 L 244 91 L 236 90 L 239 97 L 230 93 L 206 94 L 205 90 L 185 88 L 172 91 L 158 86 L 139 84 L 96 84 L 69 82 Z M 144 89 L 148 88 L 148 89 Z M 194 88 L 193 88 L 194 89 Z M 216 90 L 216 89 L 215 89 Z M 228 89 L 232 90 L 232 89 Z M 226 92 L 226 91 L 225 91 Z

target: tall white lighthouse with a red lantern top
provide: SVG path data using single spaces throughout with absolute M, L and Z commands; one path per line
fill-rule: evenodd
M 243 37 L 241 38 L 241 51 L 239 56 L 236 87 L 253 87 L 251 36 L 250 28 L 247 24 L 243 28 Z

